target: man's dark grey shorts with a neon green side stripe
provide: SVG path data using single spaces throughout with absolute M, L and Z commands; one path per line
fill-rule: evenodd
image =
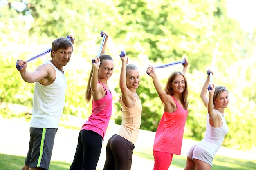
M 30 128 L 29 151 L 25 165 L 29 168 L 49 169 L 57 130 L 53 128 Z

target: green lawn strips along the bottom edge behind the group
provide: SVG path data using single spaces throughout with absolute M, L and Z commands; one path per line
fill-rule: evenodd
M 152 159 L 150 151 L 135 152 L 134 155 Z M 1 170 L 20 170 L 24 164 L 24 156 L 0 154 L 0 169 Z M 186 157 L 174 155 L 171 169 L 183 169 L 186 163 Z M 134 166 L 134 165 L 133 165 Z M 68 170 L 70 163 L 63 161 L 51 161 L 50 170 Z M 153 167 L 152 167 L 153 168 Z M 256 162 L 245 159 L 234 159 L 225 156 L 216 155 L 213 161 L 212 170 L 255 170 Z M 99 169 L 97 169 L 99 170 Z

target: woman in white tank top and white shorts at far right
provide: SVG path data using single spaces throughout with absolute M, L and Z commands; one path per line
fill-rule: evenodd
M 209 73 L 212 73 L 212 71 L 209 70 Z M 224 86 L 215 86 L 214 84 L 207 88 L 209 81 L 208 74 L 200 94 L 204 106 L 208 110 L 205 135 L 187 153 L 188 157 L 184 170 L 211 170 L 213 158 L 229 131 L 224 117 L 224 110 L 229 104 L 229 92 Z M 209 97 L 206 95 L 207 89 Z

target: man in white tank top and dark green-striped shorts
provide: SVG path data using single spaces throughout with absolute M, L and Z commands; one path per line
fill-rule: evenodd
M 67 65 L 73 52 L 74 38 L 57 38 L 52 42 L 51 57 L 35 71 L 26 70 L 27 61 L 18 60 L 20 75 L 25 82 L 35 83 L 33 111 L 30 122 L 29 151 L 21 170 L 48 170 L 64 108 L 66 78 L 63 66 Z

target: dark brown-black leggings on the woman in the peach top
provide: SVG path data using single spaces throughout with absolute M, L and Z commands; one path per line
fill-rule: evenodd
M 134 145 L 119 135 L 108 140 L 106 161 L 103 170 L 130 170 Z

